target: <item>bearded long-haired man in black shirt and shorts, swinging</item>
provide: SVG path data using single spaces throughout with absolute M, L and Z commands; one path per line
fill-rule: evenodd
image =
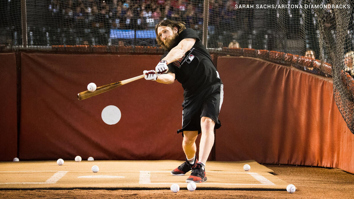
M 186 182 L 205 182 L 205 165 L 214 144 L 214 129 L 223 102 L 223 83 L 207 49 L 193 29 L 184 22 L 164 20 L 156 24 L 156 41 L 166 53 L 154 70 L 144 70 L 146 80 L 182 84 L 182 147 L 186 161 L 171 171 L 181 176 L 192 170 Z M 199 161 L 196 159 L 195 140 L 201 133 Z

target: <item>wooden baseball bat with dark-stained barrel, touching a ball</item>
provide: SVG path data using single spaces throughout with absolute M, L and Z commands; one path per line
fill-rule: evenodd
M 136 77 L 133 77 L 133 78 L 130 78 L 130 79 L 126 79 L 126 80 L 123 80 L 123 81 L 118 81 L 116 83 L 107 84 L 107 85 L 104 85 L 104 86 L 97 87 L 97 89 L 95 91 L 92 91 L 92 92 L 91 91 L 83 91 L 83 92 L 78 93 L 78 99 L 79 100 L 86 99 L 86 98 L 101 94 L 103 92 L 112 90 L 112 89 L 114 89 L 114 88 L 116 88 L 118 86 L 121 86 L 121 85 L 124 85 L 124 84 L 128 84 L 128 83 L 130 83 L 132 81 L 135 81 L 135 80 L 138 80 L 138 79 L 142 79 L 142 78 L 144 78 L 144 74 L 136 76 Z

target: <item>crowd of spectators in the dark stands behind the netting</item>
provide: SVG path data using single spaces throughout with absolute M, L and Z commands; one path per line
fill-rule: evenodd
M 326 52 L 320 52 L 319 32 L 324 33 L 327 40 L 335 41 L 336 23 L 332 10 L 324 10 L 322 16 L 316 16 L 320 12 L 310 9 L 247 7 L 262 3 L 262 0 L 209 0 L 207 47 L 266 49 L 298 55 L 304 55 L 306 49 L 310 49 L 315 55 L 324 55 Z M 301 1 L 292 0 L 291 3 L 300 4 Z M 235 8 L 236 4 L 244 5 L 244 8 Z M 323 0 L 322 4 L 327 1 Z M 202 38 L 203 11 L 203 0 L 28 1 L 28 44 L 156 46 L 153 37 L 127 39 L 112 36 L 116 32 L 111 30 L 154 30 L 155 24 L 163 19 L 183 21 Z M 0 45 L 21 43 L 20 14 L 20 1 L 0 2 L 0 28 L 3 29 L 0 30 Z M 345 51 L 354 49 L 353 9 L 348 22 Z M 320 29 L 318 24 L 324 24 L 325 29 Z

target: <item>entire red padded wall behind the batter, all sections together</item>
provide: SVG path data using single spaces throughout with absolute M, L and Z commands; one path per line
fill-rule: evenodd
M 16 155 L 16 62 L 5 60 L 1 143 Z M 182 86 L 140 79 L 79 101 L 87 84 L 98 86 L 154 69 L 159 55 L 21 54 L 22 160 L 183 160 Z M 333 100 L 329 78 L 247 57 L 217 57 L 224 82 L 222 127 L 216 132 L 216 160 L 336 167 L 354 173 L 354 136 Z M 5 76 L 4 76 L 5 75 Z M 4 76 L 4 77 L 3 77 Z M 108 105 L 122 113 L 107 125 Z M 10 119 L 9 119 L 10 118 Z

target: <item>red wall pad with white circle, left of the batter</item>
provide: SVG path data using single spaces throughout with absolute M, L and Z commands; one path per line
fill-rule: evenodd
M 139 79 L 79 101 L 77 93 L 154 69 L 158 55 L 59 55 L 22 53 L 22 159 L 184 159 L 183 89 Z M 102 109 L 117 106 L 115 125 Z

